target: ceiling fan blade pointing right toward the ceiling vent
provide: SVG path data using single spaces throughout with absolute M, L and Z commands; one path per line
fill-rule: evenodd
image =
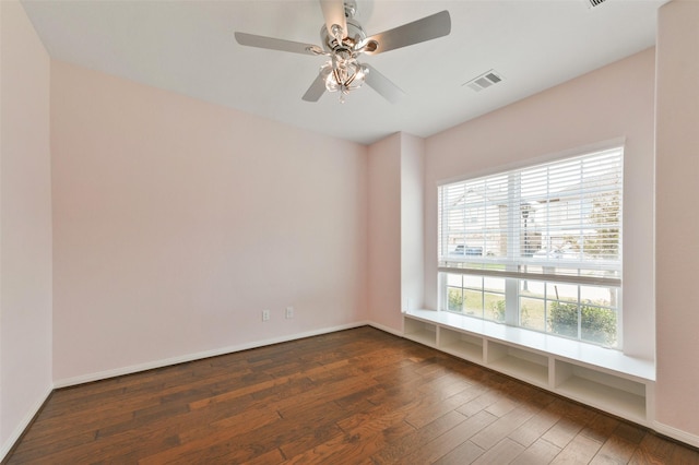
M 366 43 L 369 47 L 367 55 L 377 55 L 384 51 L 394 50 L 408 45 L 419 44 L 437 37 L 443 37 L 451 32 L 451 16 L 447 10 L 425 16 L 422 20 L 403 24 L 395 28 L 384 31 L 368 37 Z M 376 47 L 372 46 L 376 43 Z

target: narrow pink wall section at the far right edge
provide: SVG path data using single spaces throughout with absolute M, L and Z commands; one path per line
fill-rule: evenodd
M 694 434 L 687 441 L 697 446 L 698 84 L 699 2 L 675 0 L 660 10 L 657 36 L 656 418 L 666 433 Z

